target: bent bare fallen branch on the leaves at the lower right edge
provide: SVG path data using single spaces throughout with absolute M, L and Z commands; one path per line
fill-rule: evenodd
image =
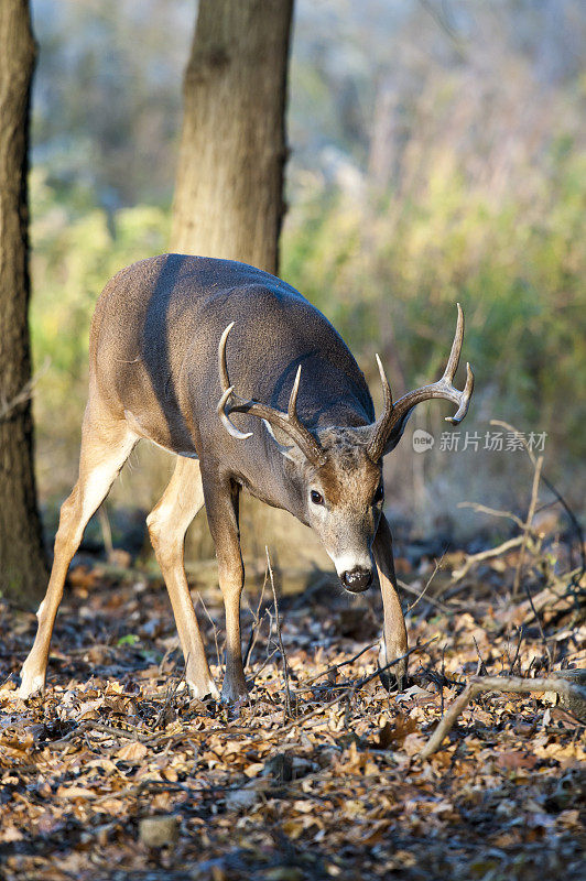
M 474 700 L 481 692 L 511 692 L 519 695 L 527 695 L 533 692 L 554 692 L 576 701 L 584 701 L 586 706 L 586 687 L 575 685 L 556 676 L 535 679 L 522 679 L 519 676 L 473 676 L 468 685 L 440 720 L 437 728 L 420 752 L 421 759 L 428 759 L 440 749 L 458 716 L 466 709 L 470 700 Z

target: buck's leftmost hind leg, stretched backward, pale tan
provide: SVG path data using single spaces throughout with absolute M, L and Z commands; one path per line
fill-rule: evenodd
M 36 613 L 36 637 L 21 671 L 19 694 L 23 698 L 44 689 L 51 635 L 69 563 L 88 520 L 108 494 L 137 440 L 124 420 L 88 404 L 82 427 L 79 477 L 61 509 L 48 587 Z

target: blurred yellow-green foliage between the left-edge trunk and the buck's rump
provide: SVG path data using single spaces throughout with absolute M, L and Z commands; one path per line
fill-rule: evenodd
M 31 205 L 37 471 L 46 499 L 63 497 L 74 478 L 99 293 L 122 267 L 166 250 L 170 218 L 146 205 L 108 215 L 82 188 L 55 191 L 41 167 L 31 175 Z

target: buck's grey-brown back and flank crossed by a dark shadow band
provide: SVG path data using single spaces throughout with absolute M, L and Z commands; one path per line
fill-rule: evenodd
M 372 420 L 363 376 L 322 313 L 274 275 L 229 260 L 163 254 L 119 272 L 96 306 L 90 377 L 112 411 L 193 454 L 194 436 L 217 429 L 217 349 L 230 322 L 239 394 L 286 409 L 302 365 L 299 412 L 310 426 Z

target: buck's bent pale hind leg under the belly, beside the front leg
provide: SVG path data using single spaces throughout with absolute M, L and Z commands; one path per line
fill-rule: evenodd
M 186 662 L 187 686 L 194 697 L 219 697 L 209 672 L 183 565 L 185 532 L 203 505 L 199 463 L 180 456 L 171 482 L 146 518 L 146 525 L 173 607 Z

